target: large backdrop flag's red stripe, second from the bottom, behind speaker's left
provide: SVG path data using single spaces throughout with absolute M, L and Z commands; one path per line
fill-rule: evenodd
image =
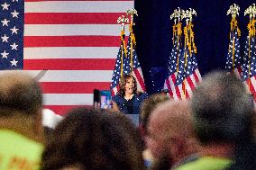
M 43 94 L 93 94 L 94 89 L 108 90 L 110 82 L 41 82 Z

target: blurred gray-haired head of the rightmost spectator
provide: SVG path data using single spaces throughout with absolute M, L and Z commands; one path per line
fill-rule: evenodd
M 251 132 L 253 101 L 234 74 L 215 71 L 194 91 L 191 107 L 198 139 L 233 142 Z

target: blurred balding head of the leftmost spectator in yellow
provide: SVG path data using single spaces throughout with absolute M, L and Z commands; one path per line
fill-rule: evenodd
M 1 73 L 0 117 L 8 116 L 12 112 L 35 114 L 41 105 L 41 88 L 36 80 L 23 71 Z

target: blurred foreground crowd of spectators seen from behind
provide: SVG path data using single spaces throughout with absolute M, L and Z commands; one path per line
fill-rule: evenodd
M 135 80 L 127 77 L 120 96 L 136 101 Z M 255 169 L 254 101 L 237 76 L 209 73 L 185 101 L 148 96 L 136 108 L 139 126 L 118 111 L 120 101 L 114 110 L 79 107 L 62 118 L 43 109 L 37 79 L 3 71 L 0 169 Z

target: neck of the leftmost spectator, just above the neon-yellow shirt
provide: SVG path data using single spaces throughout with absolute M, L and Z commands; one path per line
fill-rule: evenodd
M 21 116 L 21 114 L 3 116 L 0 119 L 0 129 L 14 130 L 29 139 L 43 143 L 43 131 L 36 127 L 36 123 L 40 122 L 36 122 L 35 119 L 33 116 Z

